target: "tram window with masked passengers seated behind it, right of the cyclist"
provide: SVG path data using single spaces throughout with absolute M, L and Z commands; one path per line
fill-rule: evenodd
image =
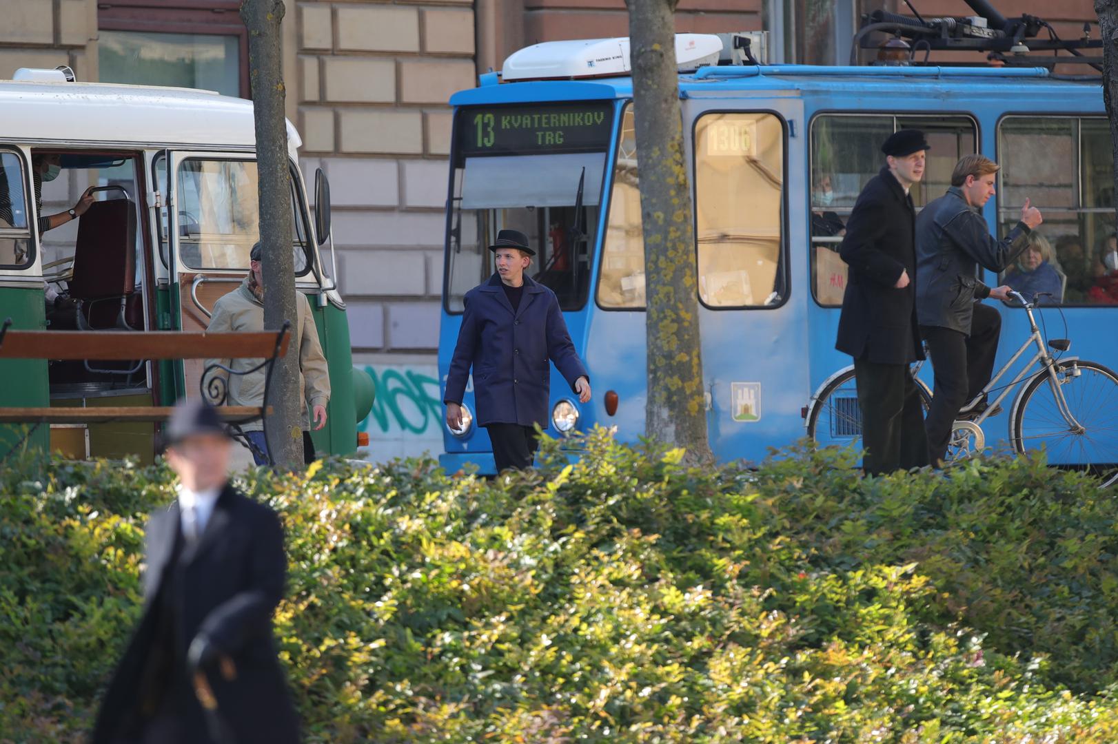
M 1004 284 L 1030 299 L 1050 293 L 1040 299 L 1048 304 L 1118 305 L 1110 142 L 1105 117 L 1007 116 L 998 124 L 1002 233 L 1017 223 L 1026 198 L 1044 214 Z

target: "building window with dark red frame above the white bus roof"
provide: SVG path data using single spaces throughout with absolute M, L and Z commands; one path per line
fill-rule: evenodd
M 239 6 L 239 0 L 101 3 L 100 80 L 249 97 L 248 36 Z

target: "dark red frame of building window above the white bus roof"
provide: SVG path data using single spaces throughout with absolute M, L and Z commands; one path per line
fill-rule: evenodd
M 235 36 L 239 96 L 252 99 L 248 29 L 239 9 L 240 0 L 110 0 L 97 3 L 97 30 Z

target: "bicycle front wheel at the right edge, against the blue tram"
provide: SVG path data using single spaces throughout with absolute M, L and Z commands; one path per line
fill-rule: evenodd
M 1057 382 L 1039 374 L 1025 385 L 1010 423 L 1013 448 L 1044 448 L 1050 465 L 1090 473 L 1103 487 L 1118 481 L 1118 374 L 1096 362 L 1060 362 Z M 1057 392 L 1059 390 L 1059 393 Z M 1058 394 L 1081 426 L 1060 412 Z

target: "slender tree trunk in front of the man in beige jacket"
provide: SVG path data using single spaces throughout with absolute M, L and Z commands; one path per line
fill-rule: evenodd
M 295 266 L 292 256 L 291 174 L 287 125 L 284 116 L 283 49 L 280 25 L 283 0 L 243 0 L 240 18 L 248 29 L 248 66 L 256 121 L 256 162 L 259 169 L 260 246 L 263 249 L 264 327 L 278 331 L 297 325 Z M 300 418 L 299 346 L 276 362 L 265 418 L 268 450 L 280 468 L 303 466 L 303 421 Z

